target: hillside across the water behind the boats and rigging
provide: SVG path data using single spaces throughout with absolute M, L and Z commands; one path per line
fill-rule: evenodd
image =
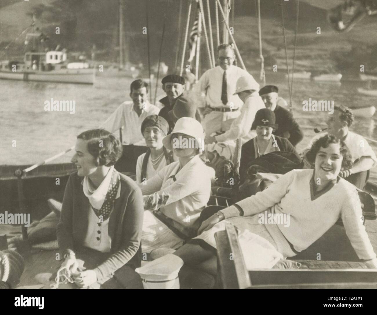
M 126 31 L 127 59 L 133 63 L 147 63 L 146 1 L 124 0 L 124 29 Z M 187 18 L 187 1 L 183 2 L 181 37 Z M 213 3 L 213 2 L 211 2 Z M 257 20 L 255 5 L 250 0 L 237 0 L 234 12 L 234 37 L 248 68 L 259 66 Z M 280 0 L 261 2 L 262 46 L 265 66 L 278 64 L 286 68 L 285 45 L 282 32 Z M 331 29 L 326 19 L 326 9 L 341 3 L 340 0 L 300 1 L 299 30 L 297 35 L 296 69 L 337 71 L 377 66 L 371 56 L 377 54 L 377 17 L 367 17 L 348 33 Z M 149 0 L 149 36 L 152 63 L 158 61 L 166 0 Z M 117 62 L 118 58 L 118 0 L 2 0 L 0 4 L 0 59 L 22 57 L 23 38 L 14 39 L 31 23 L 34 13 L 37 25 L 49 36 L 49 48 L 57 44 L 70 51 L 86 52 L 95 46 L 98 60 Z M 211 6 L 214 17 L 214 6 Z M 172 69 L 179 38 L 179 1 L 169 2 L 166 32 L 162 45 L 162 61 Z M 293 58 L 294 29 L 296 26 L 296 2 L 284 2 L 288 59 Z M 193 20 L 192 14 L 192 20 Z M 212 19 L 212 22 L 214 18 Z M 192 23 L 191 23 L 192 25 Z M 60 27 L 60 34 L 55 28 Z M 321 34 L 316 33 L 317 27 Z M 215 33 L 215 27 L 213 27 Z M 11 42 L 6 52 L 1 52 Z M 208 67 L 205 40 L 202 39 L 202 62 Z M 181 47 L 178 47 L 181 49 Z

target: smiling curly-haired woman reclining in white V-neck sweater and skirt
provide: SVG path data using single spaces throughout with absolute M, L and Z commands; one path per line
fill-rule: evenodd
M 341 218 L 358 257 L 365 260 L 369 268 L 377 268 L 376 255 L 363 226 L 356 188 L 338 176 L 342 168 L 351 166 L 348 148 L 343 141 L 326 135 L 313 144 L 309 156 L 315 161 L 314 170 L 290 171 L 266 190 L 218 211 L 202 223 L 198 237 L 174 254 L 184 263 L 203 264 L 207 270 L 209 267 L 208 271 L 215 272 L 214 234 L 225 229 L 225 222 L 231 222 L 239 231 L 244 256 L 249 260 L 264 261 L 256 268 L 271 268 L 271 262 L 278 260 L 279 253 L 280 258 L 296 255 Z M 289 215 L 289 220 L 271 222 L 267 219 L 271 214 L 275 217 Z M 242 246 L 241 240 L 245 246 Z M 260 252 L 255 252 L 258 248 L 256 242 L 274 254 L 262 257 Z M 265 252 L 268 255 L 268 251 Z

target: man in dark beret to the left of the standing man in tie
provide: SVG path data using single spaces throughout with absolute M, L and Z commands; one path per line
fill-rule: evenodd
M 169 74 L 162 79 L 161 83 L 166 96 L 159 100 L 164 107 L 158 115 L 164 117 L 169 122 L 170 133 L 173 130 L 174 122 L 170 119 L 168 113 L 173 109 L 176 100 L 182 96 L 185 90 L 185 79 L 176 74 Z

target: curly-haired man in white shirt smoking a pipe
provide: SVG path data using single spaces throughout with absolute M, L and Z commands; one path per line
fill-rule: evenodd
M 357 188 L 364 189 L 369 179 L 369 170 L 377 166 L 377 158 L 368 142 L 357 133 L 349 131 L 354 121 L 354 115 L 346 106 L 334 106 L 334 113 L 329 114 L 327 123 L 327 133 L 343 140 L 348 147 L 352 162 L 354 163 L 349 170 L 341 170 L 340 177 L 348 180 Z M 315 136 L 311 144 L 326 133 Z M 309 148 L 309 147 L 308 147 Z M 304 154 L 307 153 L 305 149 Z

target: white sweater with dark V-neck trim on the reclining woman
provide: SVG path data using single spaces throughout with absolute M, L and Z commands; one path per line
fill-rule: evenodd
M 354 185 L 340 178 L 335 185 L 313 196 L 310 188 L 313 172 L 290 171 L 266 190 L 237 204 L 244 211 L 244 216 L 264 213 L 266 210 L 271 214 L 289 214 L 289 226 L 284 226 L 284 223 L 265 223 L 265 226 L 278 245 L 284 243 L 281 240 L 284 235 L 298 252 L 308 248 L 342 218 L 346 234 L 358 257 L 366 260 L 375 258 L 363 225 L 360 199 Z M 221 212 L 225 219 L 239 216 L 234 206 Z

